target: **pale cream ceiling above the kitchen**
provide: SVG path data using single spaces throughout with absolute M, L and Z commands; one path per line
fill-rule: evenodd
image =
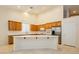
M 16 10 L 20 12 L 28 12 L 30 14 L 42 14 L 47 11 L 53 10 L 57 7 L 57 5 L 8 5 L 8 6 L 0 6 L 3 8 L 7 8 L 10 10 Z

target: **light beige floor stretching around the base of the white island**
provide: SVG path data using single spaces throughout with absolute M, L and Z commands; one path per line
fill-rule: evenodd
M 0 54 L 79 54 L 79 48 L 58 45 L 58 49 L 26 49 L 13 51 L 13 45 L 0 46 Z

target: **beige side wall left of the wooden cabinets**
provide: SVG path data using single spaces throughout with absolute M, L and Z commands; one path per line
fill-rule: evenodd
M 0 45 L 5 45 L 8 41 L 8 11 L 6 11 L 0 8 Z

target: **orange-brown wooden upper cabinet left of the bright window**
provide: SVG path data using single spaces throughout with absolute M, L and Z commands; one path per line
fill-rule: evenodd
M 8 21 L 8 29 L 9 31 L 21 31 L 22 23 L 16 21 Z

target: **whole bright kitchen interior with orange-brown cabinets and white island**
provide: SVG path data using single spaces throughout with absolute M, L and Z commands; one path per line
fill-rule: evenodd
M 79 51 L 78 7 L 69 5 L 0 6 L 2 19 L 0 20 L 0 47 L 7 47 L 0 48 L 0 53 L 6 50 L 5 53 L 14 53 L 19 50 L 25 50 L 26 53 L 32 53 L 31 51 L 37 53 L 34 50 L 38 53 L 77 53 L 76 51 Z M 39 52 L 40 50 L 42 52 Z

